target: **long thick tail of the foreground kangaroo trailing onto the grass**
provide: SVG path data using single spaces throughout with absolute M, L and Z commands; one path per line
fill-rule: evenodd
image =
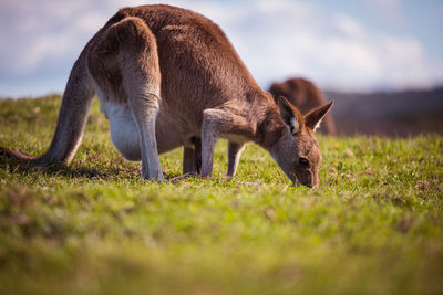
M 55 134 L 48 151 L 41 157 L 31 157 L 0 147 L 0 155 L 37 165 L 69 162 L 74 157 L 83 136 L 92 97 L 94 96 L 94 86 L 86 67 L 87 49 L 89 44 L 84 48 L 71 70 L 63 94 Z

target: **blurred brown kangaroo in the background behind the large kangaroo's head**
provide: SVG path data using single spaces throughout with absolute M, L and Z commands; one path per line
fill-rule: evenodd
M 297 108 L 306 114 L 315 107 L 319 107 L 326 103 L 324 95 L 316 85 L 306 78 L 289 78 L 282 83 L 272 83 L 269 88 L 274 99 L 277 102 L 278 97 L 284 96 L 289 103 L 297 106 Z M 336 135 L 336 124 L 331 114 L 324 116 L 321 131 Z

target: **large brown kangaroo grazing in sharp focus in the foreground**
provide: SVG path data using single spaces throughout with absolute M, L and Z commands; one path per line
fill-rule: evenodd
M 75 62 L 48 151 L 39 158 L 3 152 L 39 165 L 69 162 L 94 93 L 113 144 L 126 159 L 142 160 L 145 179 L 163 181 L 158 154 L 193 147 L 196 138 L 202 138 L 202 176 L 209 177 L 223 137 L 229 140 L 231 172 L 244 144 L 255 141 L 292 182 L 318 185 L 321 156 L 313 130 L 332 103 L 305 117 L 282 97 L 275 104 L 224 32 L 200 14 L 171 6 L 121 9 Z M 185 168 L 195 166 L 190 154 L 185 150 Z

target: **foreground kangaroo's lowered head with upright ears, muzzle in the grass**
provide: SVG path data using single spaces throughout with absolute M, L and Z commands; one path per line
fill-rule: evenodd
M 277 164 L 293 183 L 317 187 L 321 154 L 316 129 L 333 102 L 319 106 L 302 116 L 285 97 L 278 98 L 280 116 L 287 127 L 272 152 Z

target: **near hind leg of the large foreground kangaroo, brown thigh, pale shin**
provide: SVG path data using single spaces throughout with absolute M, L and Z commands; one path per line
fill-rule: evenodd
M 91 55 L 90 71 L 100 87 L 130 106 L 138 128 L 142 177 L 163 181 L 155 138 L 161 91 L 155 36 L 143 20 L 125 18 L 106 30 Z

